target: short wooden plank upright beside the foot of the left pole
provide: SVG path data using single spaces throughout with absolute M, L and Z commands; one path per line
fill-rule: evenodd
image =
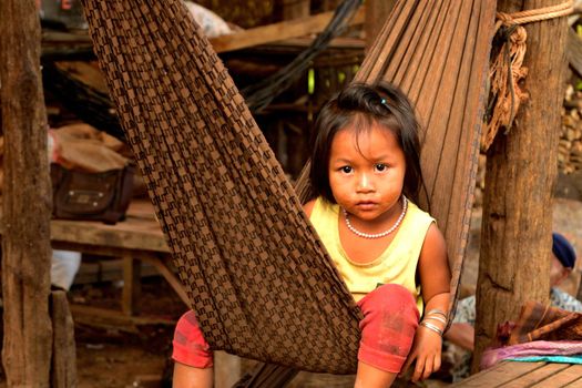
M 74 323 L 65 292 L 51 293 L 51 316 L 53 334 L 51 387 L 76 387 Z

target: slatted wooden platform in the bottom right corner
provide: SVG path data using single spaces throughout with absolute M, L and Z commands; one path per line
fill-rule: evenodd
M 503 361 L 452 387 L 582 388 L 582 365 Z

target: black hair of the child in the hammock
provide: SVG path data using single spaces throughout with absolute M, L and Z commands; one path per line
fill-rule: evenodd
M 351 125 L 358 136 L 360 132 L 369 131 L 372 122 L 396 135 L 406 160 L 404 194 L 418 203 L 420 187 L 423 185 L 420 170 L 420 125 L 405 93 L 387 82 L 372 85 L 351 83 L 319 111 L 312 134 L 309 171 L 315 194 L 335 203 L 328 167 L 331 142 L 337 132 Z

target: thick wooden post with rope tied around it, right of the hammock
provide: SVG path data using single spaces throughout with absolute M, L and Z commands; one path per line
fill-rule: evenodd
M 507 13 L 561 0 L 501 0 Z M 565 71 L 565 18 L 525 24 L 529 100 L 513 127 L 487 154 L 473 370 L 497 325 L 515 320 L 527 300 L 549 302 L 552 190 L 558 174 Z

